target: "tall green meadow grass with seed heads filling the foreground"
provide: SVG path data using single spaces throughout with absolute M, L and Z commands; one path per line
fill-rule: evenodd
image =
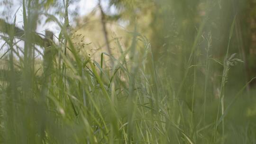
M 22 29 L 15 18 L 0 23 L 1 144 L 256 144 L 255 90 L 247 90 L 244 62 L 232 53 L 236 18 L 219 59 L 205 18 L 189 49 L 178 42 L 156 57 L 134 25 L 126 47 L 115 37 L 119 53 L 96 60 L 67 30 L 67 5 L 63 23 L 40 14 L 61 28 L 53 41 L 50 31 L 35 32 L 37 7 L 24 3 Z

